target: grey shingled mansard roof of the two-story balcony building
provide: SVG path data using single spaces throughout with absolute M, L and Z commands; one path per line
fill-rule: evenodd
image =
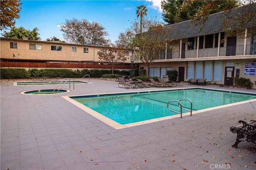
M 254 3 L 252 6 L 247 5 L 233 9 L 230 11 L 230 15 L 238 13 L 242 14 L 243 12 L 248 12 L 248 10 L 255 13 L 256 3 Z M 165 26 L 166 29 L 170 29 L 170 34 L 163 35 L 163 39 L 177 40 L 223 32 L 223 30 L 221 30 L 221 26 L 222 22 L 226 20 L 226 13 L 227 11 L 209 15 L 208 20 L 205 22 L 205 26 L 202 30 L 200 30 L 200 25 L 194 26 L 192 24 L 192 20 Z M 254 18 L 254 21 L 255 20 L 256 18 Z

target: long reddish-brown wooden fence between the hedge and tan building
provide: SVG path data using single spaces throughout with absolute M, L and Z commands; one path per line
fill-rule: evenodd
M 21 68 L 72 68 L 72 69 L 112 69 L 112 65 L 105 64 L 70 64 L 70 63 L 30 63 L 30 62 L 10 62 L 1 61 L 1 67 L 21 67 Z M 114 65 L 114 69 L 131 69 L 131 65 Z M 133 65 L 132 69 L 139 69 Z

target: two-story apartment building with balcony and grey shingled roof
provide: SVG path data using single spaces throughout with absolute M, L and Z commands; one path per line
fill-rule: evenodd
M 246 8 L 232 12 L 243 10 Z M 256 4 L 250 10 L 256 12 Z M 165 26 L 170 34 L 163 37 L 172 43 L 166 45 L 166 50 L 150 65 L 149 76 L 162 77 L 167 70 L 177 70 L 177 81 L 202 78 L 227 86 L 233 85 L 232 77 L 244 77 L 250 79 L 252 88 L 256 89 L 256 26 L 248 26 L 242 37 L 236 32 L 226 34 L 222 29 L 224 14 L 210 15 L 202 30 L 192 25 L 191 20 Z M 136 62 L 146 68 L 141 61 Z

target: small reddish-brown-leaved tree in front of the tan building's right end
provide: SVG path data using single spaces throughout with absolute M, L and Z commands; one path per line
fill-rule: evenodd
M 113 43 L 107 45 L 99 52 L 99 61 L 108 62 L 112 65 L 112 74 L 114 74 L 114 65 L 126 61 L 124 50 L 116 47 Z

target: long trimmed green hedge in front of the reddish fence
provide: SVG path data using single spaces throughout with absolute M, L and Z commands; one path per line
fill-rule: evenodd
M 28 79 L 42 77 L 80 78 L 88 74 L 90 77 L 102 77 L 104 74 L 111 74 L 108 69 L 23 69 L 23 68 L 0 68 L 0 79 Z M 114 70 L 114 74 L 129 75 L 130 71 Z

